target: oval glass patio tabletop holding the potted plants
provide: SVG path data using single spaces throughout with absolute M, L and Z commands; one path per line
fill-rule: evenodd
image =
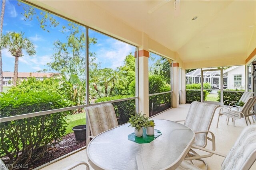
M 162 135 L 150 143 L 128 140 L 134 132 L 129 123 L 97 135 L 87 146 L 87 157 L 94 169 L 175 169 L 182 162 L 194 132 L 180 123 L 154 119 Z

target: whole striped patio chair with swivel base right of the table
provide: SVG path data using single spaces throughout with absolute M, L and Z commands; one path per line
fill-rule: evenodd
M 212 153 L 206 155 L 199 155 L 194 151 L 194 148 L 205 148 L 207 145 L 207 141 L 211 141 L 212 150 L 215 150 L 215 136 L 211 131 L 209 131 L 209 129 L 212 123 L 214 113 L 218 107 L 220 106 L 202 102 L 191 103 L 184 125 L 192 129 L 194 133 L 196 133 L 196 137 L 194 144 L 190 149 L 190 153 L 192 154 L 188 154 L 188 157 L 186 157 L 185 160 L 197 159 L 203 161 L 206 164 L 206 162 L 202 160 L 202 158 L 207 158 L 213 155 Z M 211 134 L 212 138 L 208 137 L 209 133 Z

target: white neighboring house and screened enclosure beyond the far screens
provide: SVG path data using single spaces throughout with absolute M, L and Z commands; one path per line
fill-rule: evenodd
M 216 71 L 208 71 L 205 82 L 210 82 L 212 88 L 219 88 L 220 74 Z M 198 68 L 186 74 L 186 84 L 200 83 L 201 69 Z M 245 89 L 245 67 L 232 66 L 223 70 L 223 88 L 224 89 Z

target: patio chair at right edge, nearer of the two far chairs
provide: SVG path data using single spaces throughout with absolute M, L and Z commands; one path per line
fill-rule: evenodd
M 228 111 L 223 111 L 223 107 L 220 109 L 220 113 L 219 113 L 219 117 L 218 117 L 218 121 L 217 121 L 217 128 L 218 128 L 218 123 L 219 123 L 219 119 L 221 115 L 226 115 L 228 116 L 228 120 L 229 117 L 231 117 L 234 121 L 234 126 L 236 126 L 236 119 L 241 119 L 244 118 L 246 125 L 248 125 L 246 117 L 255 115 L 255 113 L 252 110 L 252 107 L 256 104 L 256 97 L 250 97 L 247 102 L 244 104 L 244 106 L 241 108 L 241 111 L 236 111 L 233 109 L 228 109 Z M 251 124 L 250 119 L 248 118 L 249 123 Z

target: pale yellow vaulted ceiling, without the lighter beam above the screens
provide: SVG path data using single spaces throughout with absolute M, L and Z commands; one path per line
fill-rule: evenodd
M 245 59 L 251 41 L 256 41 L 255 0 L 180 0 L 178 17 L 174 16 L 174 0 L 92 2 L 176 51 L 184 62 Z M 149 14 L 156 6 L 159 8 Z M 198 18 L 192 20 L 195 16 Z

